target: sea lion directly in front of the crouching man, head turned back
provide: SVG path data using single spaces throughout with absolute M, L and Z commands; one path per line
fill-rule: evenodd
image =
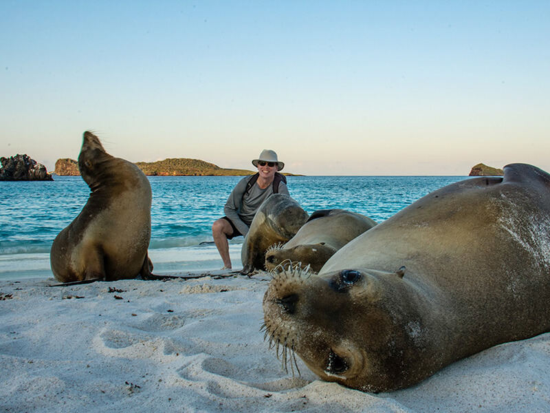
M 263 270 L 270 246 L 290 240 L 307 221 L 307 212 L 283 193 L 274 193 L 260 205 L 241 250 L 241 273 Z

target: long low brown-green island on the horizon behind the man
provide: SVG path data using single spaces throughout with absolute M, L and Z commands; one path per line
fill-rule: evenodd
M 147 176 L 246 176 L 254 175 L 247 169 L 220 168 L 210 162 L 189 158 L 168 158 L 156 162 L 135 162 Z M 55 173 L 59 176 L 80 176 L 78 161 L 69 158 L 56 161 Z M 292 175 L 292 173 L 285 173 Z

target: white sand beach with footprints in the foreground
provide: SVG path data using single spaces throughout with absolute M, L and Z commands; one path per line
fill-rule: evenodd
M 406 390 L 363 393 L 318 380 L 299 359 L 300 376 L 285 372 L 260 332 L 267 274 L 211 274 L 70 287 L 0 281 L 0 411 L 550 410 L 550 333 Z

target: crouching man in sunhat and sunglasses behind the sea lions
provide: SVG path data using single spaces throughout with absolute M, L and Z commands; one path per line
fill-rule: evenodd
M 252 165 L 258 168 L 258 173 L 245 176 L 236 184 L 223 207 L 225 217 L 212 224 L 214 244 L 223 260 L 224 270 L 231 269 L 228 240 L 248 233 L 256 211 L 270 195 L 289 195 L 286 178 L 278 173 L 285 164 L 277 160 L 275 151 L 264 149 L 258 159 L 252 160 Z

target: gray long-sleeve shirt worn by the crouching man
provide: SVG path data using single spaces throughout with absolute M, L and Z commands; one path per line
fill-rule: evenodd
M 235 185 L 233 191 L 231 191 L 229 195 L 228 201 L 225 202 L 225 207 L 223 207 L 223 213 L 225 213 L 233 222 L 236 229 L 243 235 L 248 233 L 248 228 L 260 205 L 273 194 L 273 185 L 261 189 L 258 186 L 258 182 L 255 182 L 252 188 L 250 188 L 250 191 L 243 196 L 246 190 L 246 184 L 250 179 L 250 176 L 245 176 Z M 287 185 L 282 181 L 279 182 L 278 192 L 290 195 Z

